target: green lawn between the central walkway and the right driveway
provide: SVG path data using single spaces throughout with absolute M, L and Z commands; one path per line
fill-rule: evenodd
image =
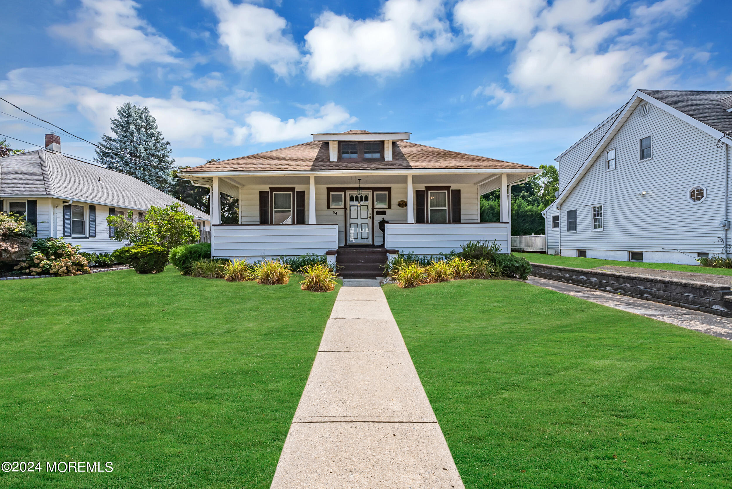
M 514 280 L 384 291 L 467 488 L 730 487 L 728 340 Z

